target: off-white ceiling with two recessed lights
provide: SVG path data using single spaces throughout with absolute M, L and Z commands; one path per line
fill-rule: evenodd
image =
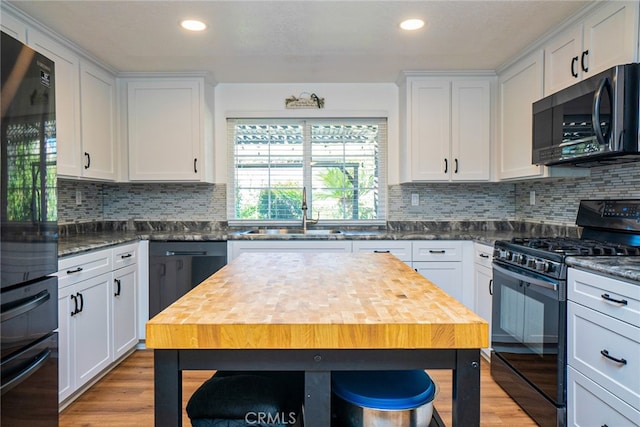
M 220 83 L 352 83 L 394 82 L 401 70 L 497 69 L 592 1 L 8 3 L 117 71 L 206 71 Z M 194 17 L 208 29 L 178 26 Z M 410 17 L 425 27 L 401 31 Z

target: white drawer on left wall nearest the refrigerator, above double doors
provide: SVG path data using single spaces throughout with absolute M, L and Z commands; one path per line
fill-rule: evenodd
M 112 270 L 111 249 L 91 251 L 58 260 L 58 287 L 81 282 Z

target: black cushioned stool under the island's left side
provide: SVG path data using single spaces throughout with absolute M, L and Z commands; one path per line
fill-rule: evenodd
M 187 403 L 193 427 L 302 426 L 304 372 L 218 371 Z

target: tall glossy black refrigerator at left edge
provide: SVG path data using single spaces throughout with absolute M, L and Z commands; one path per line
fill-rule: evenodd
M 0 425 L 58 425 L 54 63 L 2 33 Z

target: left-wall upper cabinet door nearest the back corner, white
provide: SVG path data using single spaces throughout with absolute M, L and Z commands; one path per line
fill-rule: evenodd
M 82 62 L 80 88 L 83 176 L 115 180 L 115 78 Z

